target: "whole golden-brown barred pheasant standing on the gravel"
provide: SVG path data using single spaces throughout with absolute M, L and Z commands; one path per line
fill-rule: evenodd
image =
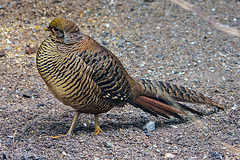
M 115 54 L 69 19 L 55 18 L 44 30 L 50 35 L 38 48 L 37 69 L 52 94 L 76 111 L 68 136 L 73 135 L 80 113 L 94 114 L 95 134 L 99 134 L 99 114 L 125 104 L 156 117 L 180 120 L 190 113 L 203 115 L 181 102 L 225 108 L 180 85 L 132 78 Z

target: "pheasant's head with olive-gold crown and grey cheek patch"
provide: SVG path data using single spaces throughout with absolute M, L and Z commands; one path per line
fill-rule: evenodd
M 44 30 L 50 31 L 55 41 L 65 44 L 73 44 L 82 37 L 78 25 L 64 18 L 54 19 Z

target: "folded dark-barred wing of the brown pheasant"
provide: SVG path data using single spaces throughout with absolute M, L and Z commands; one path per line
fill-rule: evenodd
M 104 98 L 126 100 L 131 88 L 120 61 L 93 39 L 79 47 L 78 56 L 92 68 L 92 78 L 101 88 Z

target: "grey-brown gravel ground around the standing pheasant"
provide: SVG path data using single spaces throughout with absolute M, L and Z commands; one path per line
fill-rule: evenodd
M 153 0 L 154 1 L 154 0 Z M 189 2 L 222 24 L 240 30 L 238 0 Z M 100 116 L 74 116 L 38 75 L 35 53 L 56 17 L 114 52 L 133 77 L 187 86 L 226 105 L 204 111 L 197 122 L 155 118 L 130 105 Z M 240 43 L 167 0 L 0 2 L 0 159 L 240 159 Z M 34 52 L 34 51 L 33 51 Z M 150 120 L 156 129 L 146 135 Z

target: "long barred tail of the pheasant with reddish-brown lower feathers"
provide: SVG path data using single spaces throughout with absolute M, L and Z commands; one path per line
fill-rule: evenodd
M 216 106 L 219 109 L 225 108 L 203 94 L 182 86 L 154 80 L 135 80 L 141 85 L 143 94 L 130 103 L 155 116 L 160 115 L 166 118 L 174 116 L 183 119 L 180 115 L 187 115 L 185 111 L 203 115 L 201 112 L 176 101 L 206 104 Z

